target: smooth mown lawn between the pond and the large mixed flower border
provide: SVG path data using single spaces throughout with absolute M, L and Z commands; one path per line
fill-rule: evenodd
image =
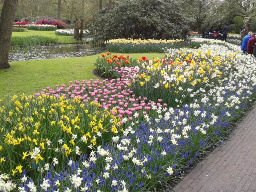
M 53 87 L 56 84 L 68 84 L 69 81 L 74 80 L 98 79 L 92 74 L 92 70 L 97 57 L 100 55 L 10 62 L 10 69 L 0 70 L 0 98 L 7 100 L 7 96 L 13 96 L 14 94 L 38 93 L 47 86 Z M 124 55 L 126 56 L 126 54 Z M 141 58 L 142 56 L 162 58 L 164 56 L 160 53 L 129 55 L 131 58 Z

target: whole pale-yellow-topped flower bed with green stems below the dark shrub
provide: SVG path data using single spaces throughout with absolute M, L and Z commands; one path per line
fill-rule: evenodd
M 119 53 L 164 52 L 165 48 L 184 46 L 184 40 L 142 40 L 142 39 L 112 39 L 105 41 L 107 50 Z

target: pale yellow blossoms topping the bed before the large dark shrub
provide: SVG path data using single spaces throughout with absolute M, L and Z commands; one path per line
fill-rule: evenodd
M 171 40 L 155 40 L 155 39 L 146 39 L 146 40 L 143 40 L 143 39 L 111 39 L 111 40 L 108 40 L 108 41 L 105 41 L 105 44 L 169 44 L 169 43 L 177 43 L 177 42 L 182 42 L 184 40 L 182 39 L 171 39 Z

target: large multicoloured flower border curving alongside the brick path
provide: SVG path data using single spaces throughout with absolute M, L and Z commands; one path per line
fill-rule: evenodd
M 182 178 L 255 99 L 256 59 L 220 40 L 180 42 L 160 43 L 164 58 L 106 52 L 95 63 L 103 80 L 2 102 L 0 190 L 154 191 Z

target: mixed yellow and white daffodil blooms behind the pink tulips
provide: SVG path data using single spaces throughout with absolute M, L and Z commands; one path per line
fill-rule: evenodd
M 165 59 L 154 58 L 149 62 L 141 62 L 143 70 L 132 80 L 140 86 L 172 89 L 176 93 L 188 88 L 188 85 L 205 84 L 222 77 L 226 67 L 236 55 L 223 56 L 220 53 L 205 51 L 187 52 L 180 50 L 176 55 L 166 54 Z M 151 82 L 152 80 L 152 82 Z M 181 86 L 181 88 L 180 88 Z

